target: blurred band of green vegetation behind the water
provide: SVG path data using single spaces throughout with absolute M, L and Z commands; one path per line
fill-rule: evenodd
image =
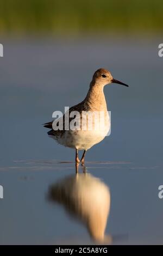
M 162 33 L 162 0 L 1 0 L 0 34 Z

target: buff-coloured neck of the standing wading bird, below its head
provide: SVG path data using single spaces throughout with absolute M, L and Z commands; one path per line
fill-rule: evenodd
M 104 95 L 103 86 L 91 82 L 89 92 L 85 98 L 85 104 L 91 109 L 91 111 L 106 111 L 106 100 Z

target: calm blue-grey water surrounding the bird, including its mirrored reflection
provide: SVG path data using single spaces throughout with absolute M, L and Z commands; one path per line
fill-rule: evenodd
M 0 243 L 94 243 L 96 223 L 103 231 L 107 221 L 105 243 L 161 244 L 160 40 L 1 43 Z M 76 176 L 74 150 L 48 138 L 41 124 L 83 100 L 100 67 L 130 87 L 105 87 L 111 135 L 87 151 L 86 173 L 80 166 Z

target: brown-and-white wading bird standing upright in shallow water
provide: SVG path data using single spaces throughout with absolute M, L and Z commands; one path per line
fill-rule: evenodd
M 65 147 L 76 150 L 76 164 L 79 162 L 84 164 L 86 151 L 93 145 L 101 142 L 110 130 L 110 118 L 103 89 L 104 86 L 111 83 L 128 87 L 128 84 L 114 79 L 110 71 L 104 68 L 96 70 L 95 74 L 93 74 L 85 99 L 68 109 L 68 119 L 66 119 L 66 112 L 62 117 L 56 119 L 55 122 L 53 120 L 43 124 L 44 127 L 51 129 L 47 132 L 49 137 L 55 139 L 55 141 Z M 74 118 L 71 117 L 71 114 L 76 112 L 79 113 L 79 115 L 78 117 L 76 115 L 74 122 Z M 98 113 L 96 117 L 95 113 Z M 99 119 L 101 113 L 104 114 L 102 125 L 100 124 L 101 119 Z M 94 114 L 93 117 L 91 114 Z M 92 121 L 92 129 L 90 129 L 89 120 Z M 62 121 L 63 124 L 62 129 L 54 129 L 54 123 L 56 125 L 59 124 L 60 121 Z M 68 129 L 65 129 L 66 121 L 68 121 Z M 71 129 L 71 123 L 74 126 L 76 124 L 76 127 L 73 126 L 73 129 Z M 79 125 L 77 125 L 77 123 Z M 95 129 L 95 126 L 98 128 Z M 81 129 L 81 127 L 84 127 L 84 129 Z M 79 160 L 78 150 L 84 150 L 81 160 Z

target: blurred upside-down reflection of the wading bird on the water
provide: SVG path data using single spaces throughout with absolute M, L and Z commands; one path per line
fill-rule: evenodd
M 49 200 L 65 206 L 67 212 L 86 225 L 93 240 L 111 243 L 111 236 L 105 235 L 110 211 L 110 191 L 103 181 L 86 173 L 68 176 L 49 187 Z

